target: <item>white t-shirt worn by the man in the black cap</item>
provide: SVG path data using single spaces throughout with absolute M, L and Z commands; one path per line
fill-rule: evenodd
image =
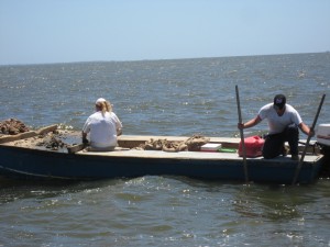
M 258 116 L 268 121 L 270 134 L 280 133 L 287 125 L 293 123 L 299 125 L 302 122 L 299 113 L 292 105 L 285 104 L 285 112 L 280 116 L 277 115 L 273 105 L 268 103 L 258 111 Z

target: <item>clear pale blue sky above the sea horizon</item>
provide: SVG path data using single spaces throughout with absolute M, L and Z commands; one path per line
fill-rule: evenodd
M 0 0 L 0 65 L 330 50 L 330 0 Z

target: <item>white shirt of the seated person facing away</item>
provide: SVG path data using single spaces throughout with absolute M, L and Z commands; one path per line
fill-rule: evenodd
M 122 128 L 122 124 L 113 112 L 101 111 L 91 114 L 84 127 L 84 133 L 90 133 L 90 146 L 106 148 L 117 146 L 117 130 Z

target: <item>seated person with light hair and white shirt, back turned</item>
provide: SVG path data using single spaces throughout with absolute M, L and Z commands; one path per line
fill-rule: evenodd
M 91 114 L 82 127 L 82 143 L 88 143 L 88 150 L 108 151 L 114 150 L 117 136 L 122 134 L 122 123 L 112 112 L 109 101 L 100 98 L 95 103 L 96 112 Z

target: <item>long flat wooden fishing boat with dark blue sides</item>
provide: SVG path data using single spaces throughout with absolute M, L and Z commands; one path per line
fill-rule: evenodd
M 62 144 L 41 145 L 56 133 Z M 59 136 L 59 137 L 58 137 Z M 54 138 L 54 136 L 52 137 Z M 141 150 L 150 139 L 185 142 L 185 136 L 122 135 L 113 151 L 86 151 L 80 133 L 58 131 L 57 125 L 0 137 L 0 177 L 32 180 L 97 180 L 141 176 L 186 176 L 240 182 L 292 183 L 298 161 L 290 155 L 274 159 L 246 158 L 238 154 L 240 138 L 209 137 L 217 150 Z M 59 143 L 61 143 L 59 142 Z M 311 183 L 323 156 L 309 151 L 298 170 L 298 183 Z M 246 169 L 244 169 L 246 168 Z

